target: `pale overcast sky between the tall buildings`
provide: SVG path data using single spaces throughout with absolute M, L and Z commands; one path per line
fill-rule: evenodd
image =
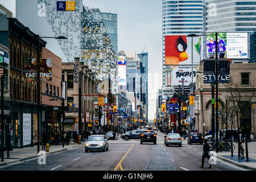
M 15 17 L 15 0 L 0 0 Z M 84 0 L 89 8 L 118 17 L 118 51 L 128 56 L 148 52 L 148 118 L 154 119 L 156 92 L 162 86 L 162 1 Z

